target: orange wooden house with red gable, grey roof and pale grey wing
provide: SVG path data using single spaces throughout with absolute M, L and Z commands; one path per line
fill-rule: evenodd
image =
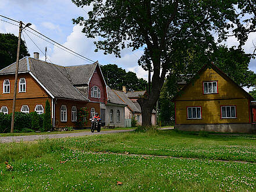
M 13 63 L 0 70 L 0 112 L 3 113 L 12 112 L 15 69 L 16 63 Z M 39 54 L 34 53 L 34 58 L 20 59 L 18 82 L 15 111 L 41 114 L 48 100 L 54 127 L 76 127 L 77 110 L 81 107 L 86 106 L 90 116 L 100 113 L 105 123 L 105 110 L 115 105 L 119 110 L 116 124 L 125 126 L 126 104 L 108 97 L 112 90 L 107 89 L 98 62 L 64 67 L 41 61 Z

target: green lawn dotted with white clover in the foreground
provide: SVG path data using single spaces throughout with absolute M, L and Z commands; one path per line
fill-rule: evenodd
M 200 137 L 173 130 L 0 144 L 0 190 L 255 191 L 255 163 L 210 160 L 255 162 L 255 144 L 255 136 Z M 13 170 L 5 168 L 6 160 Z

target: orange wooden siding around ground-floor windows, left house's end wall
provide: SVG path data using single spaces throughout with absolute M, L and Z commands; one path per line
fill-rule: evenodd
M 44 106 L 44 112 L 45 112 L 45 102 L 49 101 L 51 105 L 51 98 L 30 98 L 30 99 L 16 99 L 16 105 L 15 105 L 15 111 L 19 112 L 22 108 L 22 105 L 28 105 L 29 106 L 29 112 L 33 112 L 35 109 L 35 105 L 42 105 Z M 6 99 L 3 101 L 0 101 L 0 108 L 2 106 L 7 106 L 9 114 L 12 113 L 12 99 Z

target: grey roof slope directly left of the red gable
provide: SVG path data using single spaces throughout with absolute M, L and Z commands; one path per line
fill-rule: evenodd
M 89 83 L 97 64 L 98 62 L 90 65 L 69 66 L 65 67 L 65 69 L 67 70 L 73 84 L 87 84 Z

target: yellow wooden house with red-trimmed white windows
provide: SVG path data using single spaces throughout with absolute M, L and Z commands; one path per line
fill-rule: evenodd
M 173 98 L 175 129 L 251 133 L 253 100 L 221 69 L 205 65 Z

